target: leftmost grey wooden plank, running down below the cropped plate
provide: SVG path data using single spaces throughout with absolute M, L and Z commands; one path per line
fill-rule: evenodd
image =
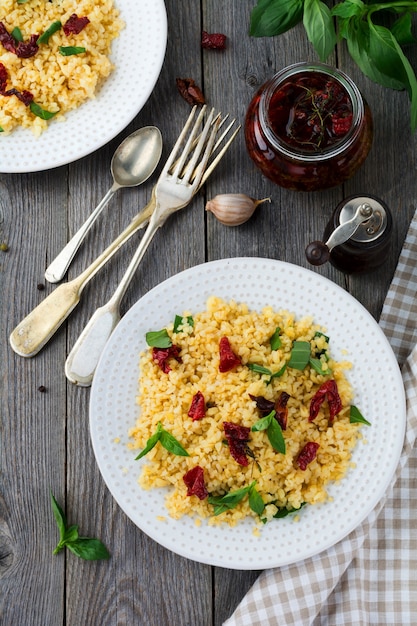
M 21 359 L 8 335 L 47 293 L 37 285 L 48 224 L 55 211 L 65 215 L 66 183 L 52 173 L 0 175 L 0 187 L 1 237 L 9 245 L 0 260 L 0 614 L 5 624 L 56 624 L 64 615 L 65 562 L 52 556 L 58 535 L 49 490 L 65 504 L 66 385 L 55 376 L 65 352 L 54 343 L 36 361 Z

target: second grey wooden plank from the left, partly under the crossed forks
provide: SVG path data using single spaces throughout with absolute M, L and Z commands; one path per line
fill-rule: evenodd
M 148 103 L 123 133 L 126 136 L 134 128 L 156 123 L 164 138 L 162 162 L 168 156 L 190 111 L 189 105 L 182 101 L 176 91 L 175 78 L 191 74 L 200 80 L 201 76 L 199 55 L 189 57 L 187 47 L 184 46 L 184 42 L 191 41 L 193 33 L 199 29 L 199 10 L 195 3 L 188 3 L 187 13 L 190 18 L 183 21 L 175 3 L 167 3 L 167 9 L 170 39 L 164 68 Z M 172 107 L 176 111 L 175 119 Z M 109 157 L 110 148 L 106 147 L 99 155 L 93 155 L 84 163 L 74 164 L 71 167 L 70 183 L 74 190 L 79 184 L 85 185 L 86 174 L 91 180 L 105 178 L 104 161 L 109 160 Z M 155 180 L 156 177 L 151 182 Z M 138 209 L 146 204 L 150 198 L 150 189 L 149 184 L 136 190 L 124 190 L 114 199 L 114 208 L 108 212 L 105 220 L 106 232 L 103 232 L 102 220 L 101 227 L 98 226 L 91 233 L 88 247 L 80 251 L 79 266 L 83 266 L 90 255 L 94 257 L 104 247 L 103 239 L 111 241 Z M 94 192 L 97 193 L 97 189 Z M 73 212 L 74 218 L 77 212 L 79 214 L 75 202 L 70 212 Z M 164 225 L 163 233 L 155 236 L 132 281 L 122 303 L 122 312 L 162 280 L 204 261 L 203 220 L 203 202 L 197 198 L 192 207 Z M 191 245 L 188 233 L 196 233 L 191 238 Z M 92 281 L 76 319 L 68 325 L 69 347 L 95 307 L 103 304 L 110 296 L 112 285 L 117 283 L 126 269 L 139 237 L 134 237 L 126 244 L 112 262 L 103 268 L 98 280 Z M 78 269 L 74 265 L 73 271 Z M 66 601 L 68 623 L 123 623 L 132 626 L 198 623 L 209 626 L 212 622 L 211 568 L 162 548 L 138 530 L 117 507 L 98 473 L 88 443 L 87 420 L 82 419 L 80 424 L 78 419 L 71 419 L 71 416 L 88 414 L 88 397 L 88 390 L 69 389 L 68 445 L 70 449 L 78 450 L 78 454 L 68 459 L 68 497 L 74 510 L 81 515 L 83 528 L 86 532 L 100 534 L 109 546 L 112 558 L 107 564 L 97 565 L 94 571 L 87 571 L 83 563 L 75 559 L 69 560 Z M 91 498 L 87 507 L 84 494 L 89 494 Z M 82 590 L 94 580 L 96 594 L 92 602 L 90 594 L 86 596 Z

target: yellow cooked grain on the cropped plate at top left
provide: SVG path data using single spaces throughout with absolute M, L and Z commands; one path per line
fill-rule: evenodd
M 64 25 L 74 14 L 89 21 L 80 32 L 66 35 Z M 19 39 L 27 45 L 33 35 L 41 37 L 56 22 L 62 28 L 39 43 L 28 58 L 13 51 L 13 38 L 7 41 L 8 36 L 17 36 L 16 47 Z M 28 0 L 24 4 L 2 0 L 0 23 L 5 40 L 0 42 L 2 91 L 29 92 L 38 112 L 16 95 L 0 94 L 0 129 L 10 133 L 22 126 L 35 136 L 51 123 L 42 117 L 55 114 L 50 119 L 63 121 L 66 113 L 96 96 L 113 70 L 111 44 L 124 26 L 113 0 Z M 74 53 L 74 48 L 85 51 Z

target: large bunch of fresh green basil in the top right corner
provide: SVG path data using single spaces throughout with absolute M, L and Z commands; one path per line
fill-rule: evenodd
M 417 12 L 417 2 L 343 0 L 333 8 L 328 5 L 323 0 L 258 0 L 249 32 L 254 37 L 271 37 L 302 22 L 321 61 L 327 60 L 339 35 L 365 76 L 384 87 L 407 91 L 415 130 L 417 79 L 402 46 L 416 43 L 411 16 Z M 396 19 L 389 27 L 385 18 L 392 16 Z

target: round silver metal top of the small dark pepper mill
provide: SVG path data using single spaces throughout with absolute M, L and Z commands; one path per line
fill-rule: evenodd
M 360 205 L 368 205 L 372 209 L 371 217 L 359 224 L 350 239 L 358 243 L 370 243 L 378 239 L 387 227 L 387 214 L 380 202 L 368 196 L 357 196 L 348 200 L 339 215 L 340 224 L 352 220 Z

